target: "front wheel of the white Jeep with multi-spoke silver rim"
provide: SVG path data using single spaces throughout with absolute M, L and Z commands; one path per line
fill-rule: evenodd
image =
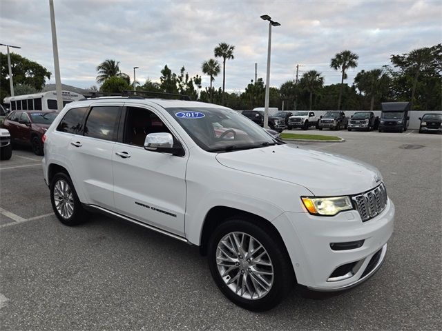
M 290 292 L 292 286 L 295 283 L 294 270 L 291 266 L 289 259 L 289 254 L 285 250 L 284 244 L 278 238 L 278 235 L 273 234 L 273 228 L 269 226 L 261 226 L 253 223 L 252 219 L 247 217 L 231 217 L 221 223 L 221 225 L 216 228 L 209 241 L 209 268 L 218 288 L 221 292 L 233 303 L 236 303 L 242 308 L 247 310 L 252 310 L 255 312 L 270 310 L 280 303 L 280 301 Z M 273 235 L 272 235 L 273 234 Z M 229 237 L 236 235 L 238 239 L 244 238 L 244 248 L 249 247 L 250 238 L 254 239 L 255 246 L 262 245 L 262 248 L 255 250 L 255 253 L 265 252 L 261 259 L 256 259 L 256 261 L 262 261 L 263 263 L 270 263 L 271 266 L 260 265 L 260 263 L 247 262 L 247 254 L 244 256 L 241 253 L 237 253 L 239 250 L 230 246 L 231 250 L 227 248 L 230 245 L 231 239 Z M 243 237 L 244 236 L 244 237 Z M 222 241 L 225 242 L 222 243 Z M 241 241 L 242 242 L 242 241 Z M 221 248 L 221 249 L 220 249 Z M 221 252 L 224 250 L 224 252 Z M 227 251 L 227 252 L 226 252 Z M 254 254 L 252 253 L 252 256 Z M 259 256 L 259 255 L 258 255 Z M 254 256 L 257 258 L 258 256 Z M 227 261 L 221 261 L 219 258 L 224 257 Z M 233 260 L 233 261 L 232 261 Z M 237 260 L 236 262 L 234 260 Z M 218 265 L 222 263 L 223 265 Z M 233 267 L 233 269 L 231 269 Z M 229 269 L 231 269 L 229 271 Z M 242 270 L 242 271 L 241 271 Z M 260 281 L 265 287 L 260 287 L 256 279 L 258 278 L 257 273 L 270 272 L 270 275 L 260 276 Z M 222 272 L 224 273 L 224 278 L 222 277 Z M 242 276 L 244 274 L 244 276 Z M 238 277 L 238 283 L 233 281 Z M 244 278 L 246 279 L 246 284 L 242 285 Z M 252 281 L 253 278 L 253 281 Z M 240 279 L 240 281 L 239 281 Z M 266 281 L 267 283 L 263 282 Z M 269 285 L 270 284 L 270 285 Z M 234 292 L 237 286 L 238 293 Z M 260 293 L 260 296 L 258 295 Z

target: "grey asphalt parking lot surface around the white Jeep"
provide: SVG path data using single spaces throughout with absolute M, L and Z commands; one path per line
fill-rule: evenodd
M 299 145 L 375 165 L 396 205 L 387 259 L 362 285 L 242 310 L 198 248 L 99 215 L 61 225 L 41 158 L 21 149 L 0 163 L 1 330 L 440 330 L 442 135 L 309 133 L 345 138 Z

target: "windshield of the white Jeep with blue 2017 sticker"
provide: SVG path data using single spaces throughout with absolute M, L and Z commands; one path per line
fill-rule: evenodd
M 226 108 L 166 108 L 187 134 L 208 152 L 230 152 L 278 143 L 265 130 Z

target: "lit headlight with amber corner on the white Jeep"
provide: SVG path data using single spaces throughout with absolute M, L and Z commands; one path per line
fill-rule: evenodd
M 305 208 L 313 215 L 333 216 L 343 210 L 353 209 L 352 201 L 349 197 L 301 197 Z

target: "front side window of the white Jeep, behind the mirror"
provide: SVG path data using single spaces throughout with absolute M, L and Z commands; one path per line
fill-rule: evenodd
M 144 146 L 146 135 L 150 133 L 171 133 L 160 117 L 157 117 L 157 114 L 151 110 L 137 107 L 127 108 L 124 129 L 123 142 L 135 146 Z

